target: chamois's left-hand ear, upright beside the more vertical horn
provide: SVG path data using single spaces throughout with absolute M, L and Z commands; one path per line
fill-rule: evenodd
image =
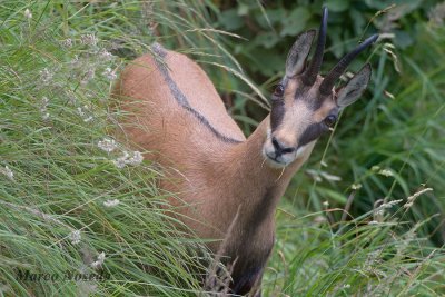
M 286 60 L 286 76 L 291 78 L 301 73 L 306 58 L 309 55 L 310 46 L 315 37 L 315 30 L 308 30 L 297 37 L 294 46 L 291 47 Z

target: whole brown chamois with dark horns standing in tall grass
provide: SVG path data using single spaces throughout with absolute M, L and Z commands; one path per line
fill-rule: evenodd
M 274 246 L 279 198 L 316 140 L 369 82 L 366 63 L 345 87 L 334 88 L 378 36 L 366 39 L 323 78 L 326 27 L 325 8 L 310 63 L 306 59 L 316 30 L 297 37 L 271 95 L 270 115 L 247 139 L 204 70 L 158 43 L 151 55 L 126 67 L 113 90 L 132 111 L 125 125 L 127 137 L 164 168 L 160 187 L 176 194 L 170 202 L 180 207 L 175 211 L 200 238 L 220 239 L 208 247 L 231 266 L 231 294 L 246 295 L 259 286 Z

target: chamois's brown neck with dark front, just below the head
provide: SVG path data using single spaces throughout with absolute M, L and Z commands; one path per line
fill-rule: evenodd
M 230 195 L 233 205 L 241 207 L 240 219 L 248 220 L 247 226 L 259 226 L 274 219 L 279 198 L 284 195 L 290 178 L 309 157 L 314 143 L 286 168 L 270 167 L 263 156 L 269 117 L 258 126 L 255 132 L 243 143 L 228 151 L 230 167 Z M 243 217 L 243 218 L 241 218 Z

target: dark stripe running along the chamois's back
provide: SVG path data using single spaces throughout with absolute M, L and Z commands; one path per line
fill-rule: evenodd
M 159 58 L 164 59 L 167 56 L 167 51 L 159 43 L 154 43 L 151 46 L 151 49 L 157 56 L 159 56 Z M 181 106 L 184 109 L 194 115 L 194 117 L 197 118 L 204 126 L 206 126 L 218 139 L 228 143 L 243 142 L 241 140 L 237 140 L 220 133 L 214 126 L 211 126 L 211 123 L 206 119 L 206 117 L 204 117 L 201 113 L 199 113 L 198 110 L 196 110 L 190 106 L 189 101 L 187 100 L 187 97 L 179 89 L 178 85 L 176 85 L 176 82 L 172 80 L 167 69 L 167 66 L 164 63 L 164 61 L 159 61 L 157 57 L 155 57 L 155 62 L 158 70 L 162 73 L 164 80 L 166 81 L 168 88 L 170 89 L 170 93 L 176 99 L 179 106 Z

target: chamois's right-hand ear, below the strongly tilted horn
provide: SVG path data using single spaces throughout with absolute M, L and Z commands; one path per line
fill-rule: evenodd
M 370 79 L 370 65 L 366 63 L 337 93 L 337 106 L 340 109 L 354 103 L 365 91 Z

